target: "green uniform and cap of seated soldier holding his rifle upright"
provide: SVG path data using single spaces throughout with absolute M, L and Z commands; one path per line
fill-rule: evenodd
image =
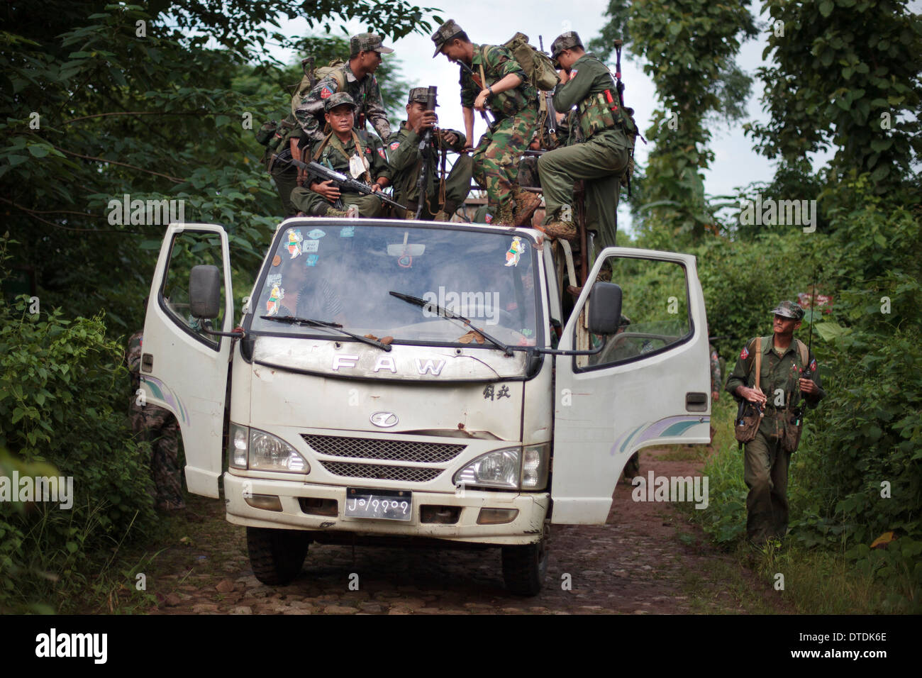
M 428 101 L 428 90 L 424 87 L 410 90 L 408 104 L 414 101 L 426 103 Z M 431 172 L 429 175 L 429 184 L 426 188 L 426 205 L 423 205 L 420 217 L 430 220 L 443 211 L 448 219 L 455 213 L 458 206 L 461 205 L 470 193 L 470 177 L 473 172 L 474 161 L 463 152 L 467 145 L 467 138 L 455 130 L 443 130 L 451 132 L 457 137 L 454 146 L 449 146 L 442 137 L 432 135 L 430 146 Z M 418 205 L 420 200 L 420 191 L 417 188 L 417 181 L 422 170 L 422 154 L 420 153 L 420 137 L 412 129 L 409 129 L 408 122 L 404 121 L 400 129 L 393 135 L 387 144 L 388 161 L 391 170 L 394 173 L 394 199 L 403 205 L 412 208 Z M 441 182 L 436 182 L 436 171 L 439 166 L 441 152 L 448 149 L 459 153 L 455 160 L 455 165 L 444 181 L 444 195 L 442 196 Z M 413 211 L 415 216 L 415 211 Z

